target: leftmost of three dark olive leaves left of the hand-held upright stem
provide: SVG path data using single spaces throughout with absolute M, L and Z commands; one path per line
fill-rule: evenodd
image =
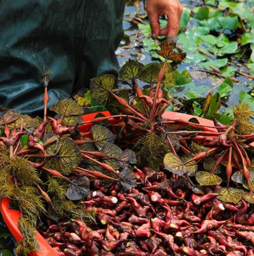
M 110 91 L 114 88 L 114 75 L 103 74 L 91 79 L 91 96 L 94 103 L 102 104 L 108 99 Z

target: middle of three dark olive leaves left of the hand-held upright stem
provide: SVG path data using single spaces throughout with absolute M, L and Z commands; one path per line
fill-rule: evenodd
M 129 59 L 119 71 L 119 79 L 123 81 L 130 81 L 137 78 L 138 72 L 143 69 L 143 64 Z

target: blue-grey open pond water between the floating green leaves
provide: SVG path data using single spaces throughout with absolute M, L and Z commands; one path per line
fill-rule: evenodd
M 196 6 L 200 6 L 201 4 L 203 4 L 203 1 L 180 2 L 183 7 L 188 8 L 189 11 L 191 11 L 191 9 L 195 8 Z M 129 47 L 119 47 L 116 51 L 120 66 L 128 61 L 129 58 L 140 61 L 143 64 L 151 63 L 152 61 L 160 61 L 159 59 L 152 58 L 151 54 L 149 53 L 149 49 L 147 47 L 143 47 L 142 39 L 144 38 L 144 36 L 142 34 L 138 34 L 139 30 L 136 24 L 130 23 L 130 20 L 135 16 L 135 14 L 138 13 L 141 17 L 142 15 L 145 17 L 146 14 L 144 11 L 143 1 L 140 0 L 140 9 L 138 12 L 135 6 L 133 6 L 134 3 L 135 1 L 126 1 L 123 27 L 124 33 L 130 36 L 130 43 L 128 44 Z M 188 29 L 190 29 L 192 26 L 198 26 L 198 24 L 193 19 L 190 19 L 188 23 Z M 123 41 L 123 44 L 124 43 L 126 43 L 126 41 Z M 178 44 L 181 44 L 181 41 L 178 41 Z M 183 51 L 185 51 L 184 47 Z M 213 59 L 216 59 L 216 56 L 213 56 Z M 238 60 L 236 60 L 236 66 L 240 66 L 240 63 L 237 63 L 237 61 Z M 218 76 L 206 73 L 203 68 L 200 68 L 200 66 L 195 63 L 185 63 L 185 61 L 183 61 L 182 63 L 178 64 L 177 69 L 180 72 L 183 70 L 188 71 L 191 75 L 193 83 L 186 84 L 186 86 L 184 87 L 180 86 L 179 88 L 174 88 L 172 93 L 175 96 L 182 96 L 183 93 L 188 90 L 196 90 L 197 92 L 201 91 L 201 96 L 205 97 L 208 91 L 211 91 L 211 93 L 213 93 L 213 91 L 215 91 L 216 88 L 218 88 L 218 86 L 223 83 L 224 80 L 224 78 L 220 78 Z M 202 71 L 200 71 L 200 69 L 202 69 Z M 236 78 L 239 80 L 239 82 L 234 82 L 233 90 L 231 91 L 230 95 L 223 98 L 223 106 L 221 106 L 221 110 L 223 110 L 223 108 L 225 107 L 230 108 L 231 106 L 238 103 L 239 93 L 241 90 L 244 90 L 246 93 L 249 94 L 254 93 L 253 80 L 251 81 L 251 79 L 241 75 L 238 75 Z

